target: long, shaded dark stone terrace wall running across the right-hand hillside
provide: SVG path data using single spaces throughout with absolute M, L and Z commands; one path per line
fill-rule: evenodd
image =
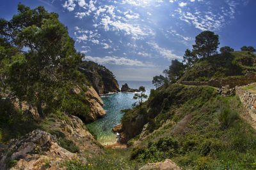
M 229 85 L 230 88 L 234 88 L 236 86 L 248 85 L 254 82 L 256 82 L 256 74 L 248 72 L 241 77 L 229 76 L 228 78 L 222 78 L 218 80 L 216 79 L 209 81 L 178 81 L 177 83 L 184 85 L 209 85 L 212 87 L 223 87 Z

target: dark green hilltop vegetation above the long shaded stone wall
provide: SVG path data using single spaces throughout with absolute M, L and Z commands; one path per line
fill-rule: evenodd
M 256 55 L 252 52 L 228 52 L 211 55 L 194 63 L 184 72 L 180 81 L 207 81 L 211 78 L 243 76 L 256 73 Z

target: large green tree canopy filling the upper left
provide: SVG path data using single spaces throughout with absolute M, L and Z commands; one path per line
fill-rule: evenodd
M 35 103 L 43 116 L 43 105 L 60 104 L 63 93 L 83 76 L 77 71 L 82 56 L 74 48 L 67 27 L 58 14 L 44 7 L 30 9 L 18 5 L 17 15 L 10 21 L 0 20 L 1 63 L 8 60 L 8 73 L 1 80 L 21 100 Z M 4 58 L 4 59 L 2 59 Z

